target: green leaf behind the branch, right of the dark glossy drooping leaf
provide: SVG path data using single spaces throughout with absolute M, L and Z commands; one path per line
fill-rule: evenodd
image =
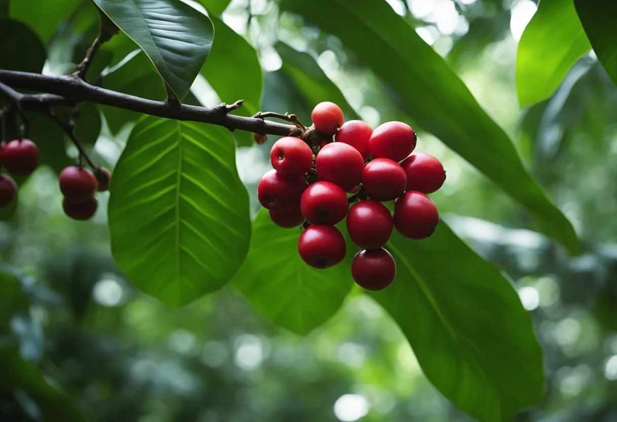
M 234 114 L 252 116 L 259 111 L 263 93 L 262 67 L 257 51 L 222 20 L 213 17 L 212 23 L 217 38 L 201 73 L 221 101 L 231 104 L 244 99 L 244 104 Z M 238 131 L 234 135 L 239 145 L 254 143 L 251 133 Z

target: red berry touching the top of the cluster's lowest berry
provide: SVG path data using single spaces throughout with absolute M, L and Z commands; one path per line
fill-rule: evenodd
M 347 213 L 347 231 L 355 246 L 362 249 L 383 247 L 392 234 L 392 215 L 381 202 L 356 202 Z

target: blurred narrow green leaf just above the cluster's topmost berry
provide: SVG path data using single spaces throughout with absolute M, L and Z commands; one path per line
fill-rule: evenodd
M 332 101 L 341 107 L 346 120 L 358 118 L 339 88 L 323 73 L 309 53 L 296 51 L 281 42 L 275 45 L 275 49 L 283 59 L 281 71 L 294 81 L 309 110 L 321 101 Z

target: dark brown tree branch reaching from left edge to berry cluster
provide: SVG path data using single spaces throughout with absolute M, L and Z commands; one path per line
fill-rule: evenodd
M 77 77 L 48 76 L 12 70 L 0 70 L 0 83 L 5 83 L 13 88 L 45 93 L 39 95 L 20 94 L 22 95 L 22 107 L 28 111 L 41 112 L 44 111 L 45 106 L 75 105 L 82 101 L 89 101 L 157 117 L 210 123 L 211 125 L 224 126 L 230 131 L 239 129 L 253 133 L 297 136 L 314 144 L 318 144 L 318 139 L 321 138 L 321 135 L 312 128 L 302 130 L 295 125 L 228 114 L 231 110 L 238 108 L 241 102 L 235 102 L 231 105 L 225 104 L 225 106 L 197 107 L 167 101 L 152 101 L 100 88 Z

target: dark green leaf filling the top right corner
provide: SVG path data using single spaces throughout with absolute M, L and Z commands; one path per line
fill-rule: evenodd
M 598 61 L 617 85 L 617 2 L 612 0 L 574 0 L 574 7 L 594 48 Z

